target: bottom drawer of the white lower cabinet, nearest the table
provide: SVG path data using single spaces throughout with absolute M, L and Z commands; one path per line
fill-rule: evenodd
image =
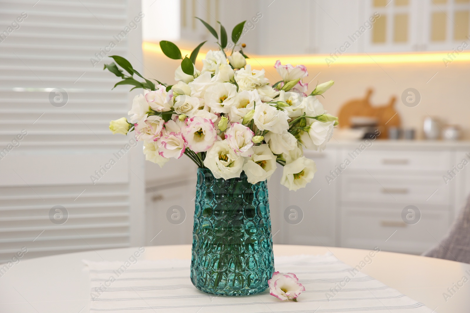
M 421 219 L 414 225 L 401 219 L 401 211 L 402 208 L 343 207 L 341 246 L 422 253 L 445 236 L 448 210 L 421 210 Z

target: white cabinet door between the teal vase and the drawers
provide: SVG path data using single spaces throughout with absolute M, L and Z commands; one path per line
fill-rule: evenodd
M 305 188 L 284 192 L 281 214 L 285 243 L 335 246 L 339 182 L 328 183 L 325 176 L 337 165 L 337 150 L 305 151 L 305 156 L 315 160 L 318 171 Z

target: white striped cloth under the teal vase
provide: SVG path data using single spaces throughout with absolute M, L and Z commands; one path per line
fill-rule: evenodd
M 90 312 L 141 313 L 431 313 L 417 301 L 376 279 L 353 271 L 331 253 L 275 258 L 275 269 L 295 273 L 305 286 L 298 302 L 281 301 L 266 290 L 251 296 L 214 296 L 189 279 L 189 260 L 92 262 Z

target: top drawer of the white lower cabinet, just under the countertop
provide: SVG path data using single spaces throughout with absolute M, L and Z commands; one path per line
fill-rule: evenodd
M 349 159 L 348 168 L 403 171 L 446 171 L 450 153 L 447 151 L 396 151 L 396 150 L 343 150 Z

